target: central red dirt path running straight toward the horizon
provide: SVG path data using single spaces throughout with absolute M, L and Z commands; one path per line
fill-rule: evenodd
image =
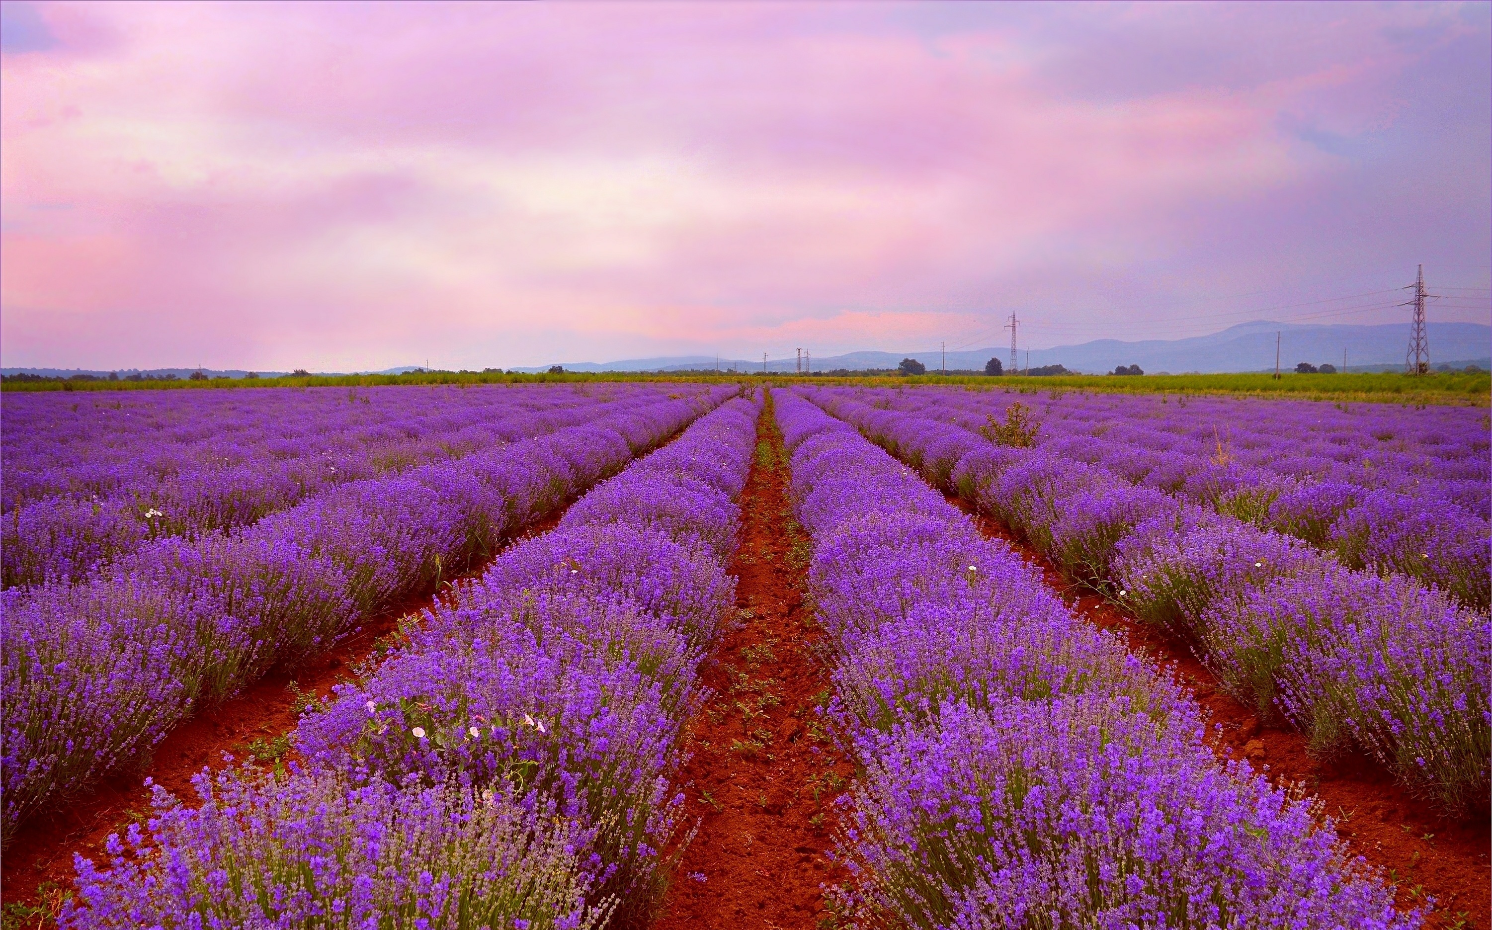
M 689 721 L 680 775 L 700 827 L 653 930 L 812 929 L 830 915 L 821 885 L 846 879 L 825 852 L 852 769 L 819 725 L 824 633 L 803 603 L 807 542 L 770 403 L 756 436 L 731 563 L 743 620 L 701 667 L 715 694 Z

